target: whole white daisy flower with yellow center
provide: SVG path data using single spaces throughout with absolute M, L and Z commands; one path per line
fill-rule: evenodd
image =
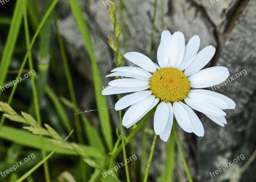
M 171 134 L 173 117 L 184 131 L 204 136 L 204 127 L 192 109 L 204 113 L 220 126 L 227 124 L 223 110 L 234 109 L 235 102 L 220 93 L 202 88 L 226 80 L 228 69 L 223 66 L 202 69 L 212 59 L 215 47 L 207 46 L 198 52 L 199 46 L 200 38 L 197 35 L 185 46 L 183 33 L 175 32 L 171 35 L 165 30 L 157 50 L 159 66 L 138 52 L 124 55 L 138 67 L 113 69 L 113 73 L 106 77 L 125 78 L 109 82 L 102 94 L 134 92 L 118 100 L 115 105 L 116 110 L 130 106 L 122 121 L 125 127 L 129 128 L 138 122 L 157 104 L 154 130 L 164 142 Z

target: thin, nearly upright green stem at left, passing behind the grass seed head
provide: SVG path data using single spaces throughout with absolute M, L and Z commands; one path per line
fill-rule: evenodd
M 25 28 L 25 37 L 26 37 L 26 45 L 27 45 L 27 49 L 29 48 L 29 32 L 28 32 L 28 18 L 27 18 L 27 9 L 24 10 L 24 28 Z M 31 52 L 29 52 L 28 55 L 28 63 L 29 63 L 29 69 L 33 70 L 33 62 L 32 62 L 32 55 Z M 30 77 L 31 79 L 31 85 L 32 85 L 32 93 L 33 93 L 33 100 L 34 100 L 34 106 L 35 106 L 35 110 L 36 110 L 36 120 L 38 122 L 38 124 L 40 126 L 42 126 L 42 121 L 41 121 L 41 115 L 40 115 L 40 108 L 39 108 L 39 101 L 38 101 L 38 96 L 37 96 L 37 91 L 36 91 L 36 84 L 35 84 L 35 78 L 34 76 Z M 46 157 L 46 151 L 45 151 L 45 147 L 44 147 L 44 141 L 43 141 L 43 137 L 41 136 L 41 140 L 42 140 L 42 157 L 45 158 Z M 45 161 L 44 163 L 44 173 L 45 173 L 45 181 L 46 182 L 50 182 L 50 172 L 49 172 L 49 168 L 48 168 L 48 163 L 47 161 Z

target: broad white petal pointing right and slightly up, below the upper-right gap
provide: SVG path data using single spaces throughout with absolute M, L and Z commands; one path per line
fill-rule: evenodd
M 192 88 L 206 88 L 220 84 L 225 81 L 228 76 L 229 72 L 226 67 L 214 66 L 194 73 L 188 77 L 188 80 Z

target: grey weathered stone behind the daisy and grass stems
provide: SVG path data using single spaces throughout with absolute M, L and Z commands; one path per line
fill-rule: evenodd
M 119 16 L 119 1 L 117 18 Z M 154 0 L 123 0 L 126 33 L 126 52 L 137 51 L 148 55 L 150 33 L 154 11 Z M 91 30 L 91 38 L 100 67 L 103 84 L 107 86 L 111 78 L 104 78 L 115 67 L 114 54 L 107 43 L 107 36 L 113 37 L 113 25 L 108 17 L 106 6 L 101 0 L 80 1 L 84 18 Z M 72 60 L 72 66 L 81 79 L 88 83 L 85 89 L 76 91 L 82 98 L 80 104 L 84 109 L 95 106 L 93 97 L 92 73 L 90 59 L 84 51 L 84 43 L 77 29 L 76 22 L 66 0 L 57 4 L 58 21 L 65 46 Z M 256 162 L 254 161 L 240 178 L 234 178 L 239 169 L 252 155 L 256 148 L 256 1 L 255 0 L 164 0 L 165 29 L 171 33 L 181 31 L 186 43 L 195 34 L 201 38 L 200 50 L 207 46 L 216 47 L 216 54 L 207 66 L 220 65 L 229 69 L 230 76 L 246 70 L 247 75 L 240 76 L 216 90 L 227 95 L 236 102 L 235 110 L 227 111 L 228 124 L 221 127 L 208 118 L 200 115 L 204 125 L 204 137 L 197 137 L 179 130 L 179 138 L 187 158 L 190 172 L 195 181 L 256 181 Z M 156 30 L 154 37 L 153 60 L 156 62 L 156 51 L 162 33 L 160 1 L 156 13 Z M 120 36 L 122 40 L 122 37 Z M 125 52 L 124 48 L 122 49 Z M 128 63 L 130 64 L 130 63 Z M 109 107 L 116 102 L 115 96 L 108 96 Z M 113 128 L 119 127 L 117 112 L 111 111 L 114 120 Z M 89 113 L 97 125 L 97 113 Z M 199 113 L 198 113 L 199 114 Z M 153 122 L 149 128 L 153 128 Z M 179 128 L 179 126 L 177 126 Z M 141 134 L 140 134 L 141 135 Z M 138 143 L 138 158 L 140 135 L 135 139 Z M 152 136 L 149 137 L 151 143 Z M 156 150 L 150 168 L 150 181 L 157 181 L 163 170 L 165 158 L 165 143 L 156 142 Z M 136 155 L 137 155 L 136 153 Z M 211 178 L 209 172 L 218 170 L 225 162 L 232 161 L 243 154 L 245 160 L 237 162 L 227 171 Z M 177 151 L 174 181 L 187 181 L 186 173 L 179 152 Z M 231 163 L 232 164 L 232 163 Z

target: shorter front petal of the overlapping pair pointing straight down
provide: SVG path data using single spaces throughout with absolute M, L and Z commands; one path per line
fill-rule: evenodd
M 164 131 L 168 118 L 169 108 L 167 104 L 163 101 L 157 106 L 156 113 L 154 115 L 154 130 L 156 135 L 159 135 Z

